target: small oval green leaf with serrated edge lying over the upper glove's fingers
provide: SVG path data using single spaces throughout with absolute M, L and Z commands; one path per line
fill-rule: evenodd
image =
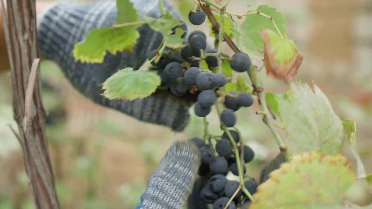
M 103 83 L 103 95 L 108 99 L 143 99 L 160 86 L 160 77 L 147 71 L 134 71 L 127 67 L 111 75 Z

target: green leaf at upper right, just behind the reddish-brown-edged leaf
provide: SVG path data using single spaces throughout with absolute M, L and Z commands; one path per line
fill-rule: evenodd
M 275 8 L 267 5 L 260 5 L 256 10 L 249 10 L 248 12 L 261 11 L 262 14 L 272 16 L 280 33 L 286 37 L 286 23 L 283 14 L 277 12 Z M 260 33 L 264 29 L 271 29 L 276 32 L 276 28 L 271 20 L 261 15 L 248 15 L 241 25 L 238 25 L 232 17 L 228 16 L 231 25 L 232 34 L 237 42 L 237 47 L 240 51 L 248 54 L 251 58 L 262 60 L 264 44 Z

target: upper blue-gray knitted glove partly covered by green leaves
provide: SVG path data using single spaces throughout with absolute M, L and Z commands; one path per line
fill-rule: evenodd
M 144 16 L 158 17 L 157 0 L 131 0 L 141 19 Z M 180 16 L 167 1 L 164 9 L 177 19 Z M 195 103 L 194 96 L 182 98 L 169 91 L 158 91 L 144 99 L 109 100 L 102 96 L 102 83 L 125 67 L 138 69 L 147 59 L 148 53 L 157 48 L 161 34 L 142 25 L 138 28 L 140 38 L 133 51 L 107 54 L 102 64 L 86 64 L 76 61 L 73 48 L 84 40 L 90 30 L 113 25 L 117 16 L 116 1 L 92 3 L 57 3 L 38 19 L 38 44 L 40 55 L 53 60 L 63 70 L 65 77 L 80 93 L 94 102 L 110 107 L 139 120 L 171 127 L 182 131 L 189 122 L 189 107 Z M 187 36 L 186 36 L 187 38 Z

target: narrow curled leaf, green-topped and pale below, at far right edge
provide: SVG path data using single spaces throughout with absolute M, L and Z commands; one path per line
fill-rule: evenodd
M 356 160 L 356 166 L 357 166 L 357 178 L 364 178 L 366 177 L 366 171 L 364 169 L 362 160 L 360 159 L 358 155 L 358 148 L 356 146 L 356 125 L 354 120 L 345 119 L 342 121 L 342 125 L 344 126 L 344 131 L 346 132 L 346 136 L 349 139 L 350 143 L 350 149 L 351 152 Z

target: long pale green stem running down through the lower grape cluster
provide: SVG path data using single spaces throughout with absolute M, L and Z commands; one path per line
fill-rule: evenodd
M 237 167 L 238 167 L 238 174 L 239 174 L 239 181 L 240 181 L 240 185 L 241 185 L 241 190 L 249 197 L 249 199 L 251 199 L 253 201 L 252 195 L 248 192 L 248 190 L 244 186 L 243 171 L 242 171 L 241 161 L 240 161 L 240 158 L 239 158 L 238 147 L 237 147 L 237 145 L 234 141 L 234 138 L 232 138 L 232 136 L 230 134 L 230 131 L 227 129 L 227 127 L 224 125 L 224 123 L 222 122 L 222 119 L 221 119 L 221 113 L 222 113 L 221 104 L 216 104 L 216 110 L 217 110 L 217 113 L 218 113 L 219 121 L 221 123 L 221 129 L 227 134 L 228 138 L 231 141 L 232 147 L 234 148 L 234 155 L 235 155 L 235 160 L 236 160 L 236 164 L 237 164 Z

